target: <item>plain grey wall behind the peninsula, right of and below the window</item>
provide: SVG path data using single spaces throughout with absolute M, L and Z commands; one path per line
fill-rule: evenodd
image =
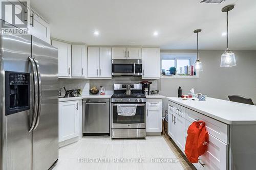
M 256 51 L 234 51 L 237 66 L 220 67 L 224 51 L 200 51 L 203 71 L 198 79 L 160 79 L 161 94 L 177 96 L 178 86 L 187 94 L 191 88 L 212 98 L 228 100 L 230 94 L 252 98 L 256 103 Z

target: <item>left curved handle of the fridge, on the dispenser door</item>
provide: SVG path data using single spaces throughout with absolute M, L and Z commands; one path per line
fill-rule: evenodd
M 38 107 L 38 79 L 36 74 L 36 67 L 34 60 L 29 56 L 29 61 L 32 65 L 32 76 L 33 76 L 33 85 L 34 85 L 34 91 L 32 91 L 33 95 L 33 111 L 32 111 L 32 123 L 29 128 L 29 132 L 31 132 L 35 126 L 36 122 L 36 113 L 37 113 L 37 107 Z

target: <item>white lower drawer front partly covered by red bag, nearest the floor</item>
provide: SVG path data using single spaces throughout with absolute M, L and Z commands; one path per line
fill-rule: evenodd
M 201 169 L 227 169 L 227 144 L 209 134 L 208 149 L 198 163 Z

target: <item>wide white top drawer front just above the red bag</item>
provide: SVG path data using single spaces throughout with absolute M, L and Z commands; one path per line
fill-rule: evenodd
M 228 125 L 187 108 L 185 118 L 191 123 L 202 120 L 205 122 L 205 127 L 209 134 L 215 136 L 224 143 L 228 143 Z

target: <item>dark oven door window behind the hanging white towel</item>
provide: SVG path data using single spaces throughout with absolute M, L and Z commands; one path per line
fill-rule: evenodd
M 131 104 L 131 103 L 130 103 Z M 141 124 L 145 123 L 145 106 L 137 106 L 134 116 L 120 116 L 117 114 L 117 106 L 113 106 L 113 124 Z

